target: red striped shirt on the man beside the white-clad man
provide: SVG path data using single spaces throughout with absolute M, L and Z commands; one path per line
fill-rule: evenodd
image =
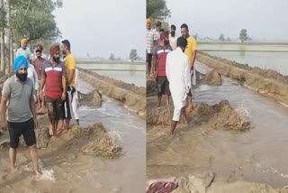
M 154 51 L 154 57 L 157 58 L 157 76 L 165 77 L 166 76 L 166 57 L 167 54 L 172 51 L 170 45 L 167 45 L 166 48 L 157 45 Z

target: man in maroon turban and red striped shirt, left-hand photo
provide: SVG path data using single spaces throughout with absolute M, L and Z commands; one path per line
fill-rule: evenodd
M 45 85 L 45 102 L 48 110 L 49 134 L 51 140 L 57 139 L 58 121 L 63 117 L 62 103 L 66 99 L 66 70 L 64 64 L 59 60 L 60 48 L 52 45 L 49 49 L 50 59 L 47 60 L 42 69 L 40 81 L 40 97 L 43 98 L 43 87 Z

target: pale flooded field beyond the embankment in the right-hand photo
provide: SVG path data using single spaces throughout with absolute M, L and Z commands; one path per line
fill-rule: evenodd
M 287 45 L 200 44 L 199 49 L 212 56 L 234 60 L 261 69 L 275 69 L 288 75 Z

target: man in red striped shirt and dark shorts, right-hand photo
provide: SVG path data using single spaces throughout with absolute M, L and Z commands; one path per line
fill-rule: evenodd
M 157 67 L 157 106 L 161 106 L 161 97 L 166 95 L 166 106 L 169 106 L 169 82 L 166 78 L 166 56 L 172 51 L 171 46 L 169 45 L 169 40 L 166 32 L 160 34 L 160 44 L 157 45 L 154 49 L 154 57 L 156 59 L 155 66 Z

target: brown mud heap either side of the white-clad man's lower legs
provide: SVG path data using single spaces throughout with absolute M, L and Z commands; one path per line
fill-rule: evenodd
M 171 123 L 173 108 L 160 106 L 148 109 L 147 124 L 158 125 Z M 199 103 L 188 115 L 188 126 L 209 124 L 213 129 L 245 131 L 250 128 L 247 115 L 241 109 L 233 109 L 228 100 L 210 106 Z

